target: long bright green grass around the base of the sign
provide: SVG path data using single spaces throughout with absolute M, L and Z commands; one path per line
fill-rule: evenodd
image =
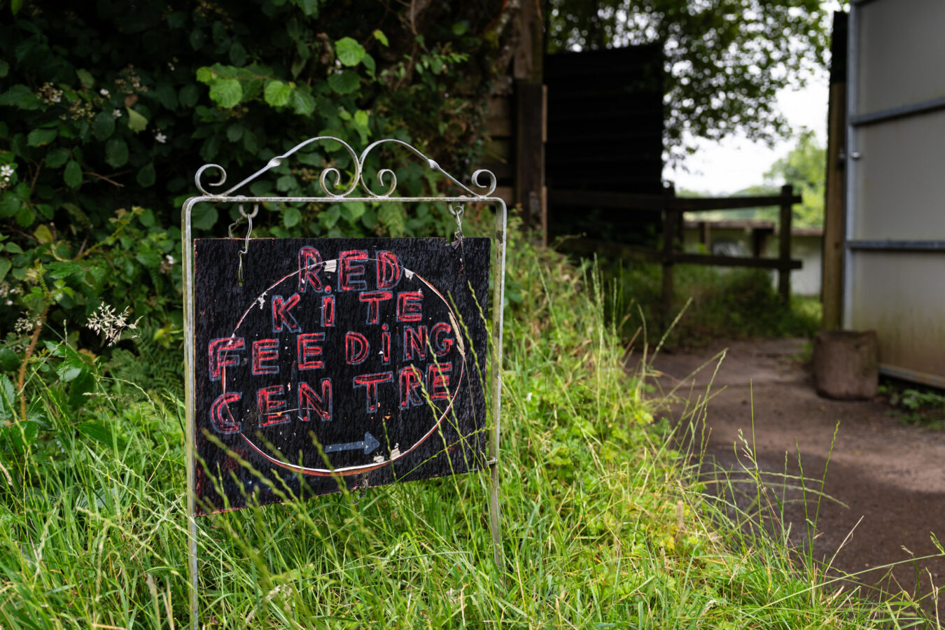
M 627 375 L 599 275 L 511 238 L 506 565 L 491 562 L 486 474 L 247 508 L 198 522 L 204 627 L 923 622 L 906 604 L 822 584 L 777 537 L 726 525 L 687 485 L 642 374 Z M 74 343 L 64 334 L 30 364 L 31 408 L 48 429 L 29 436 L 36 422 L 14 421 L 4 434 L 0 625 L 184 627 L 180 395 L 103 374 Z M 88 400 L 71 404 L 86 377 Z M 0 387 L 4 419 L 15 416 L 11 386 Z

